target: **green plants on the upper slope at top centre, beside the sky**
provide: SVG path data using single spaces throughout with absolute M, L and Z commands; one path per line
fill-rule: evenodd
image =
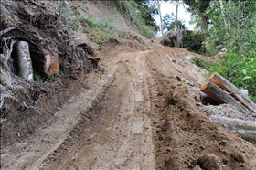
M 155 37 L 156 29 L 146 24 L 144 16 L 149 14 L 142 5 L 138 5 L 134 0 L 115 1 L 115 5 L 130 25 L 135 27 L 144 37 Z

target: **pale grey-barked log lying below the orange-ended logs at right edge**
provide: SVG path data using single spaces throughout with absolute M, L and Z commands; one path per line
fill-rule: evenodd
M 219 123 L 231 132 L 239 133 L 245 140 L 256 140 L 256 122 L 218 115 L 210 115 L 209 119 L 213 122 Z

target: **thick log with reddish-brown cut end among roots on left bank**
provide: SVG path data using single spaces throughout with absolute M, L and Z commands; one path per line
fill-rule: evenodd
M 32 58 L 33 67 L 50 76 L 59 72 L 59 56 L 52 53 L 37 53 Z

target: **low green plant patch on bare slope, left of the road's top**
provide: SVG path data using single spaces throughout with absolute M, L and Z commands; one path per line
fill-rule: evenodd
M 81 24 L 85 27 L 89 27 L 88 33 L 90 34 L 91 40 L 96 43 L 104 43 L 109 38 L 118 38 L 119 30 L 112 25 L 112 17 L 105 22 L 95 21 L 92 16 L 84 17 L 81 19 Z

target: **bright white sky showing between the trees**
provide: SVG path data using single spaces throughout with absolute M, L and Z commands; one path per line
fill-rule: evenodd
M 188 6 L 185 5 L 185 7 L 187 8 Z M 162 17 L 165 16 L 165 14 L 171 15 L 172 13 L 174 13 L 176 15 L 176 4 L 162 1 L 161 12 L 162 12 Z M 194 26 L 188 24 L 188 22 L 190 20 L 190 13 L 187 12 L 187 9 L 184 9 L 184 5 L 179 5 L 177 19 L 184 20 L 185 27 L 187 27 L 189 30 L 193 30 Z M 156 21 L 157 25 L 160 26 L 160 16 L 159 15 L 155 17 L 155 21 Z

